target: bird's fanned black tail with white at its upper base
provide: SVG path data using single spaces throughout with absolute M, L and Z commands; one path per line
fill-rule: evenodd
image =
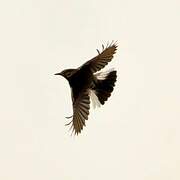
M 104 104 L 111 96 L 117 79 L 116 73 L 116 71 L 110 70 L 96 75 L 98 83 L 96 85 L 95 94 L 101 104 Z

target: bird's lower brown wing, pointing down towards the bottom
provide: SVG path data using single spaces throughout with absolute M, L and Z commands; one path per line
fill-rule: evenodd
M 73 103 L 73 132 L 78 135 L 85 126 L 85 120 L 88 119 L 90 109 L 89 91 L 82 91 Z M 70 124 L 69 123 L 69 124 Z M 69 125 L 68 124 L 68 125 Z

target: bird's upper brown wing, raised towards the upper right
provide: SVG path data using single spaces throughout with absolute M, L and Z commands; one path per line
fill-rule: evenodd
M 97 49 L 98 55 L 91 60 L 87 61 L 81 67 L 88 66 L 92 73 L 95 73 L 102 68 L 104 68 L 108 62 L 110 62 L 113 58 L 113 55 L 116 53 L 117 50 L 117 43 L 113 42 L 111 44 L 107 44 L 106 47 L 102 45 L 102 52 Z

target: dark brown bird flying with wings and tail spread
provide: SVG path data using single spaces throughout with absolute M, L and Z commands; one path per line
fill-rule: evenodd
M 114 57 L 117 51 L 117 41 L 106 46 L 102 44 L 102 51 L 76 69 L 65 69 L 54 75 L 63 76 L 70 85 L 73 115 L 66 118 L 72 120 L 72 133 L 78 135 L 86 126 L 90 110 L 90 100 L 94 107 L 104 105 L 114 90 L 117 81 L 117 71 L 109 69 L 101 71 Z

